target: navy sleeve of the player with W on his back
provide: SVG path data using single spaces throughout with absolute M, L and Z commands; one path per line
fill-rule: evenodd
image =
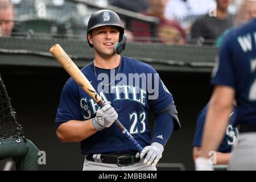
M 213 78 L 211 84 L 213 85 L 225 85 L 235 88 L 232 45 L 230 45 L 232 32 L 225 36 L 220 48 L 220 53 L 212 73 Z

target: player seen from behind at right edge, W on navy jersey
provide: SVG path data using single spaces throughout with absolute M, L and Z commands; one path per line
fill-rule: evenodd
M 217 150 L 228 126 L 232 101 L 237 100 L 239 136 L 233 147 L 230 170 L 256 170 L 256 19 L 225 36 L 219 53 L 215 85 L 204 127 L 197 170 L 212 169 L 208 154 Z

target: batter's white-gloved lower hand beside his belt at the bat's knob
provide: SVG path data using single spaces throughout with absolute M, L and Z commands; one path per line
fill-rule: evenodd
M 164 147 L 162 144 L 158 142 L 152 143 L 150 146 L 146 146 L 143 148 L 141 151 L 141 154 L 139 152 L 136 154 L 135 158 L 143 158 L 144 155 L 146 155 L 144 159 L 144 163 L 147 164 L 148 166 L 156 166 L 158 163 L 159 159 L 162 158 L 162 153 L 164 151 Z

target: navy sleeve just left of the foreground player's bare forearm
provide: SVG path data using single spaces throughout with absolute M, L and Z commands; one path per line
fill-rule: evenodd
M 202 140 L 202 136 L 203 136 L 206 113 L 207 113 L 207 111 L 203 110 L 197 116 L 195 137 L 194 137 L 193 144 L 192 144 L 193 147 L 201 146 L 201 140 Z

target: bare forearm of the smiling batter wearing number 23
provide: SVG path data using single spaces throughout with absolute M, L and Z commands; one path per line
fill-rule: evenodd
M 61 142 L 80 142 L 97 131 L 92 125 L 92 119 L 87 121 L 70 120 L 58 127 L 56 135 Z

